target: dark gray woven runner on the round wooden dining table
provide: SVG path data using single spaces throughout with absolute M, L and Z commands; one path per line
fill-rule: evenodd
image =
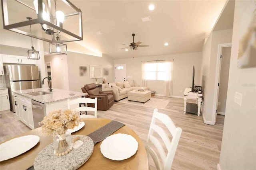
M 97 129 L 96 131 L 90 133 L 87 135 L 90 137 L 94 143 L 94 145 L 102 140 L 104 140 L 106 137 L 123 127 L 124 124 L 119 121 L 111 121 L 110 123 L 102 126 L 100 129 Z

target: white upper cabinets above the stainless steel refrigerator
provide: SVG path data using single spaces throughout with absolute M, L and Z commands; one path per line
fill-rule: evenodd
M 2 54 L 2 63 L 36 64 L 36 61 L 35 60 L 29 60 L 25 56 Z

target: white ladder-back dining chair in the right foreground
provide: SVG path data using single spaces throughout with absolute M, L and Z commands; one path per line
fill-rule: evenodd
M 170 131 L 172 135 L 172 141 L 170 141 L 167 133 L 164 131 L 164 129 L 158 125 L 156 125 L 156 120 L 161 121 L 167 129 Z M 167 149 L 167 154 L 164 152 L 164 147 L 161 145 L 160 141 L 156 139 L 156 137 L 153 136 L 154 132 L 158 133 L 158 135 L 161 137 L 164 145 Z M 146 144 L 146 150 L 148 154 L 152 157 L 157 170 L 170 170 L 172 167 L 172 161 L 180 140 L 182 129 L 180 127 L 176 127 L 174 123 L 172 122 L 172 119 L 168 115 L 165 115 L 163 113 L 159 113 L 158 109 L 154 109 L 152 121 L 149 128 L 148 133 L 148 139 Z M 158 154 L 160 155 L 160 161 L 158 154 L 152 149 L 152 147 L 149 146 L 149 141 L 154 144 L 154 147 L 158 151 Z M 150 168 L 150 165 L 149 165 Z

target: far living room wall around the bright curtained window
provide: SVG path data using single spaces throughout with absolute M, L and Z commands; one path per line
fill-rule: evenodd
M 136 51 L 135 51 L 136 52 Z M 195 84 L 199 85 L 202 53 L 184 53 L 175 55 L 160 55 L 140 58 L 114 59 L 114 64 L 126 64 L 126 74 L 134 79 L 136 84 L 141 84 L 142 62 L 152 60 L 173 61 L 173 92 L 172 96 L 184 96 L 186 87 L 192 85 L 192 70 L 195 66 Z M 148 80 L 147 86 L 155 90 L 156 94 L 164 94 L 164 82 Z

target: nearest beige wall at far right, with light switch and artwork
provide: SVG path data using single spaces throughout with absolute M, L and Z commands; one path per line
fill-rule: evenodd
M 256 169 L 256 68 L 237 68 L 239 39 L 247 30 L 253 14 L 255 17 L 255 1 L 236 0 L 226 115 L 220 151 L 222 170 Z M 255 34 L 254 29 L 254 36 Z M 234 102 L 235 92 L 242 94 L 241 106 Z

